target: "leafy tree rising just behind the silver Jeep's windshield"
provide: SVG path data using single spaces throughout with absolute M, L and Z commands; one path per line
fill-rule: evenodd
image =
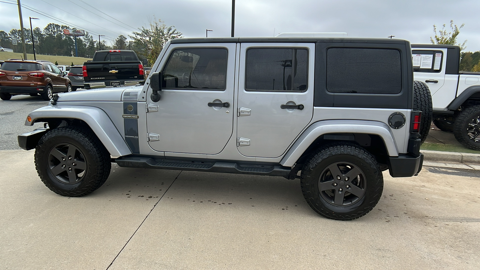
M 154 17 L 155 19 L 155 17 Z M 140 32 L 133 32 L 132 36 L 135 51 L 155 63 L 156 58 L 170 39 L 182 37 L 175 26 L 167 26 L 161 20 L 150 22 L 150 28 L 138 28 Z

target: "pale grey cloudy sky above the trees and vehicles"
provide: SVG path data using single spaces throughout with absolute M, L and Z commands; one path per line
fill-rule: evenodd
M 20 28 L 16 0 L 0 0 L 0 30 Z M 62 24 L 43 12 L 108 40 L 161 19 L 184 37 L 230 37 L 231 0 L 21 0 L 24 27 Z M 90 5 L 90 6 L 89 6 Z M 107 16 L 106 14 L 109 16 Z M 430 43 L 432 25 L 465 24 L 457 41 L 480 50 L 480 0 L 236 0 L 235 36 L 272 37 L 282 32 L 346 32 L 349 37 L 388 37 Z M 118 20 L 118 21 L 117 21 Z M 65 23 L 63 23 L 65 24 Z M 132 29 L 133 28 L 133 29 Z

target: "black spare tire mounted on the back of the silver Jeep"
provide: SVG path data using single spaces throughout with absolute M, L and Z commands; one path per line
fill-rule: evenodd
M 413 109 L 421 110 L 420 139 L 421 143 L 427 139 L 430 125 L 432 124 L 433 108 L 430 89 L 424 82 L 414 81 L 413 84 Z

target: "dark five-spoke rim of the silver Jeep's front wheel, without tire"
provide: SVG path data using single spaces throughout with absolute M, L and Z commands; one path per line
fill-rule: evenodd
M 72 144 L 58 144 L 48 152 L 48 170 L 63 184 L 82 181 L 87 170 L 84 154 Z

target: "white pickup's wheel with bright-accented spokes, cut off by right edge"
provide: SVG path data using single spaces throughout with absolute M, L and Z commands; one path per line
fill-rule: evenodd
M 463 146 L 480 150 L 480 105 L 468 107 L 456 117 L 454 123 L 454 131 L 456 140 Z M 473 131 L 469 132 L 468 131 Z M 475 135 L 472 138 L 471 135 Z M 475 139 L 477 141 L 475 141 Z

